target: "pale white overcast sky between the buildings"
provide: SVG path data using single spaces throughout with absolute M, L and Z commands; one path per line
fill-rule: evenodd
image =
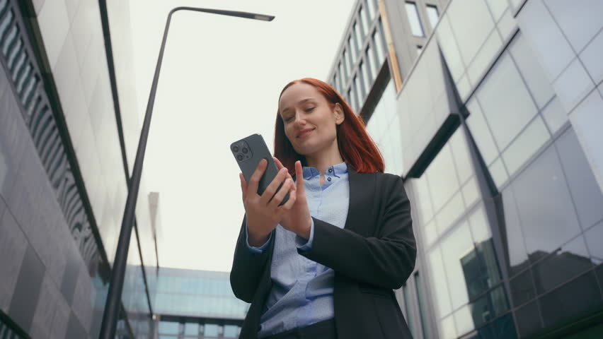
M 141 121 L 171 8 L 276 16 L 176 13 L 151 122 L 144 176 L 159 191 L 160 265 L 229 271 L 244 213 L 229 145 L 260 133 L 272 150 L 280 90 L 297 78 L 326 80 L 355 0 L 130 2 Z

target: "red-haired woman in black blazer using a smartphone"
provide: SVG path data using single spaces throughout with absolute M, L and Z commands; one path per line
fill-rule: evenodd
M 240 338 L 411 338 L 392 291 L 415 266 L 410 203 L 331 85 L 282 90 L 275 162 L 262 196 L 265 160 L 249 183 L 240 175 L 246 215 L 230 279 L 251 302 Z

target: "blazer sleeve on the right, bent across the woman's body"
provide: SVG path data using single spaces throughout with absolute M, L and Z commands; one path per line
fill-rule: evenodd
M 349 278 L 378 287 L 397 289 L 415 267 L 417 254 L 410 201 L 398 177 L 386 194 L 384 215 L 376 237 L 364 237 L 314 218 L 314 244 L 298 251 L 312 261 Z

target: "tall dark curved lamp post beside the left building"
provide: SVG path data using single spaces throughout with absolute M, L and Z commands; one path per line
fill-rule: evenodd
M 151 113 L 155 102 L 155 93 L 157 91 L 157 83 L 159 81 L 159 71 L 161 70 L 161 61 L 163 60 L 163 51 L 166 47 L 168 37 L 168 29 L 173 13 L 177 11 L 195 11 L 203 13 L 213 13 L 222 16 L 235 16 L 239 18 L 248 18 L 254 20 L 272 21 L 274 16 L 265 16 L 263 14 L 247 13 L 239 11 L 223 11 L 219 9 L 196 8 L 196 7 L 176 7 L 168 14 L 166 28 L 163 30 L 163 40 L 161 41 L 161 49 L 159 49 L 159 57 L 155 66 L 155 75 L 151 85 L 151 93 L 149 93 L 149 102 L 147 102 L 147 111 L 144 113 L 144 121 L 142 123 L 142 131 L 134 160 L 134 169 L 132 169 L 132 178 L 128 187 L 127 200 L 122 218 L 122 227 L 120 230 L 120 238 L 117 242 L 117 250 L 115 251 L 115 260 L 113 261 L 113 270 L 109 283 L 109 292 L 105 311 L 103 312 L 103 323 L 101 324 L 100 339 L 114 339 L 115 328 L 117 327 L 117 319 L 120 311 L 120 300 L 124 285 L 124 275 L 127 262 L 127 253 L 130 247 L 130 237 L 132 236 L 132 226 L 134 225 L 134 210 L 138 198 L 138 190 L 140 187 L 140 179 L 142 177 L 142 165 L 144 162 L 144 152 L 147 149 L 147 139 L 149 138 L 149 127 L 151 126 Z

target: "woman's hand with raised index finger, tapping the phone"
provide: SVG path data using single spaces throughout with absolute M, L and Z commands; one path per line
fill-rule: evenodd
M 278 169 L 281 171 L 285 168 L 282 163 L 275 157 L 275 162 Z M 295 162 L 295 178 L 297 179 L 296 189 L 289 194 L 289 201 L 293 198 L 296 202 L 292 208 L 289 208 L 280 220 L 280 225 L 286 230 L 294 232 L 304 239 L 310 238 L 310 227 L 312 217 L 306 201 L 306 189 L 304 187 L 304 172 L 302 170 L 302 162 Z M 287 202 L 288 203 L 288 202 Z

